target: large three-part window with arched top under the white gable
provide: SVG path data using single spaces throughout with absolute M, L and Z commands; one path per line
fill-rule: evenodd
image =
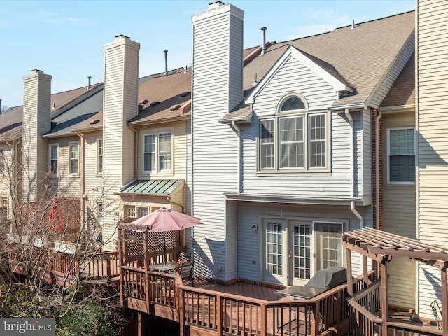
M 316 171 L 328 168 L 327 113 L 307 111 L 289 97 L 274 118 L 260 120 L 259 172 Z

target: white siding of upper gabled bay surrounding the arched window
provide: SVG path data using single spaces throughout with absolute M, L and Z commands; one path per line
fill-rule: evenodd
M 316 197 L 350 197 L 350 125 L 344 113 L 331 113 L 327 119 L 330 123 L 328 137 L 330 141 L 330 167 L 327 173 L 300 172 L 289 176 L 281 172 L 269 176 L 258 176 L 257 153 L 259 123 L 262 118 L 275 115 L 277 105 L 282 97 L 290 92 L 304 96 L 309 104 L 309 111 L 327 111 L 335 99 L 335 92 L 328 83 L 304 67 L 297 59 L 290 57 L 283 67 L 272 77 L 269 83 L 255 97 L 253 109 L 256 117 L 251 125 L 242 128 L 244 137 L 244 193 L 266 193 L 273 195 L 301 195 Z M 370 127 L 368 118 L 360 112 L 351 113 L 355 128 L 355 195 L 363 195 L 363 127 Z M 363 118 L 363 120 L 361 119 Z M 365 121 L 367 120 L 367 121 Z M 367 123 L 366 126 L 363 125 Z M 364 134 L 366 137 L 369 134 Z M 367 149 L 370 149 L 367 146 Z M 368 151 L 367 155 L 370 155 Z M 370 159 L 369 159 L 370 161 Z M 367 165 L 368 167 L 368 165 Z M 369 188 L 370 191 L 370 182 Z

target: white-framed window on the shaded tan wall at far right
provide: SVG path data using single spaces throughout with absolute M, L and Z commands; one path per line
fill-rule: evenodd
M 388 130 L 388 183 L 415 183 L 415 130 Z

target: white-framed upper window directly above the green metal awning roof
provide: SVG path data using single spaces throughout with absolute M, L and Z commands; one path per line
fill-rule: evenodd
M 145 134 L 143 138 L 144 172 L 172 171 L 172 133 Z

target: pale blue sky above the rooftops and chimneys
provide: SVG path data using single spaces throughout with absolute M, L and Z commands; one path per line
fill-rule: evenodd
M 415 9 L 415 0 L 221 0 L 244 10 L 244 48 L 288 41 Z M 197 0 L 0 1 L 0 99 L 23 104 L 23 76 L 52 75 L 52 93 L 104 80 L 104 45 L 125 35 L 140 43 L 139 76 L 190 66 Z M 372 45 L 374 48 L 374 45 Z

